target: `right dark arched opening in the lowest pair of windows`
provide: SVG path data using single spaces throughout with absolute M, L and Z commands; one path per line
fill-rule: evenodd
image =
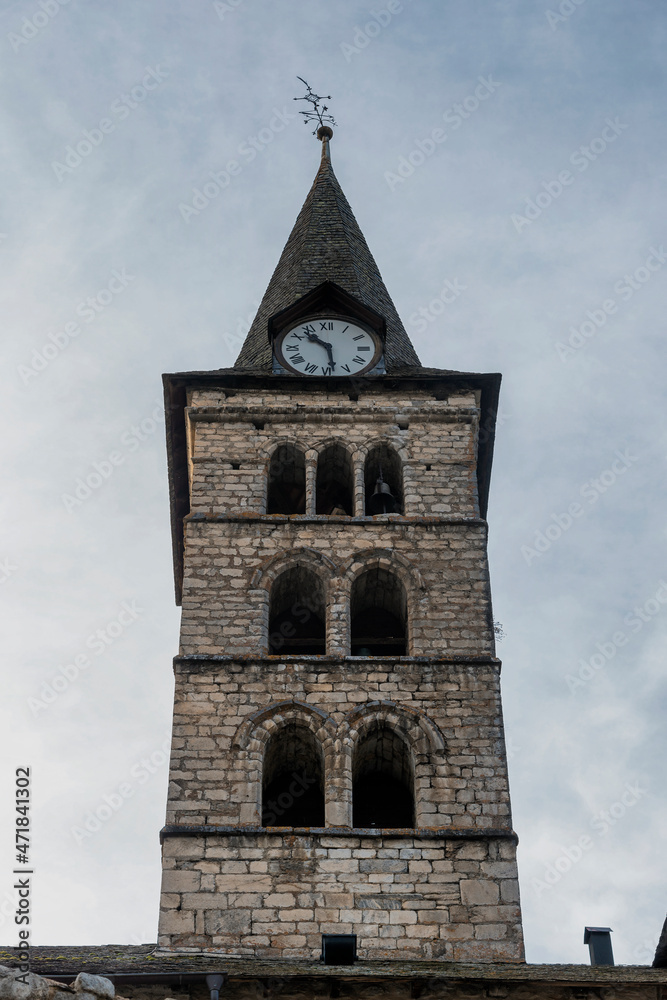
M 414 768 L 409 747 L 389 726 L 376 723 L 357 744 L 352 768 L 355 827 L 413 827 Z

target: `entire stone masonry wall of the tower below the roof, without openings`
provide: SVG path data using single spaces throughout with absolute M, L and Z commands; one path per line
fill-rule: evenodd
M 473 392 L 189 393 L 163 947 L 313 959 L 323 933 L 350 932 L 367 959 L 523 959 L 478 426 Z M 305 456 L 306 513 L 267 515 L 285 443 Z M 350 458 L 351 516 L 315 513 L 332 443 Z M 372 518 L 364 464 L 380 444 L 400 458 L 404 510 Z M 297 568 L 318 577 L 326 654 L 268 656 L 272 587 Z M 352 588 L 375 569 L 407 597 L 406 656 L 349 656 Z M 321 828 L 261 826 L 283 727 L 321 750 Z M 356 747 L 375 732 L 405 748 L 414 829 L 353 829 Z

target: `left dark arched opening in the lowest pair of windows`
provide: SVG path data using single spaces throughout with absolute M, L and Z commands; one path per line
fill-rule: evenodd
M 297 722 L 269 740 L 262 777 L 262 826 L 324 826 L 324 761 L 313 733 Z

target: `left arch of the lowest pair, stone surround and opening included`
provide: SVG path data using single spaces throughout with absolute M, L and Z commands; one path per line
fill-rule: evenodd
M 296 700 L 275 703 L 239 726 L 233 746 L 246 769 L 257 825 L 324 825 L 331 799 L 328 776 L 336 766 L 336 727 L 325 712 Z M 295 817 L 297 822 L 290 822 Z M 308 819 L 315 822 L 299 822 Z

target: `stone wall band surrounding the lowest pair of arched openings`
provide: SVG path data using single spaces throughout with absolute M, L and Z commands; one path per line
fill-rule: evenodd
M 366 657 L 177 663 L 167 823 L 258 825 L 266 743 L 298 721 L 323 748 L 327 825 L 351 826 L 376 720 L 410 747 L 418 827 L 511 830 L 498 663 Z

